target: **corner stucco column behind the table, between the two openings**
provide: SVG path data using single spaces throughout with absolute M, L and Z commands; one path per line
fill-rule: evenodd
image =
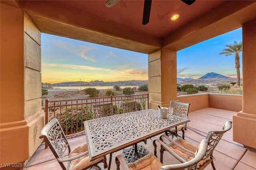
M 148 55 L 148 93 L 151 109 L 177 100 L 176 51 L 162 48 Z

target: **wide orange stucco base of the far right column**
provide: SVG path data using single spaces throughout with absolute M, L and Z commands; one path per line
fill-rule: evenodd
M 256 115 L 239 112 L 233 116 L 233 140 L 256 149 Z

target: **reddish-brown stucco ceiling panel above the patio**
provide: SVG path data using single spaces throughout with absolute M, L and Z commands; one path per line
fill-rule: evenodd
M 190 6 L 180 0 L 152 0 L 150 21 L 147 25 L 142 25 L 143 0 L 120 0 L 112 8 L 106 7 L 106 0 L 54 0 L 52 2 L 142 33 L 165 37 L 210 10 L 221 6 L 227 0 L 196 0 Z M 170 18 L 174 14 L 179 14 L 180 18 L 171 21 Z

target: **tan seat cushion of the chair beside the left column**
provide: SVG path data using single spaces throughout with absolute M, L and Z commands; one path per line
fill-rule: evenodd
M 84 145 L 81 145 L 73 149 L 70 152 L 69 157 L 72 158 L 78 154 L 82 154 L 83 152 L 86 152 L 87 150 L 88 150 L 88 146 L 87 146 L 87 143 L 85 143 Z M 103 157 L 90 161 L 89 155 L 87 154 L 85 156 L 72 160 L 70 162 L 70 170 L 81 170 L 101 160 L 103 160 Z

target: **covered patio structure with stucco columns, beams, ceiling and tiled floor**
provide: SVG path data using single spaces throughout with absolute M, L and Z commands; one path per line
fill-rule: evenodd
M 148 107 L 157 109 L 176 100 L 190 103 L 188 125 L 202 133 L 221 129 L 226 120 L 232 120 L 232 131 L 214 151 L 216 166 L 256 168 L 256 155 L 251 151 L 256 149 L 256 1 L 196 0 L 192 7 L 181 1 L 153 0 L 150 22 L 144 26 L 143 2 L 120 1 L 113 8 L 106 8 L 105 3 L 1 0 L 1 165 L 60 168 L 50 150 L 42 149 L 39 138 L 47 123 L 41 103 L 41 33 L 48 33 L 148 54 Z M 170 22 L 175 13 L 180 14 L 179 20 Z M 239 27 L 243 96 L 177 97 L 176 52 Z M 190 131 L 186 135 L 194 144 L 201 140 Z M 72 141 L 74 146 L 80 143 L 83 138 Z M 150 141 L 146 147 L 152 152 Z M 174 159 L 165 158 L 164 164 L 174 163 L 168 162 Z

